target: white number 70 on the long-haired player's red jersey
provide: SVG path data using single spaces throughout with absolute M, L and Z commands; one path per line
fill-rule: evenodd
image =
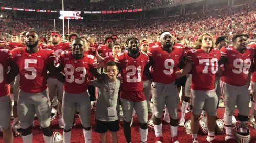
M 218 60 L 217 58 L 213 58 L 213 59 L 201 59 L 199 60 L 199 64 L 205 64 L 205 67 L 202 71 L 202 73 L 208 73 L 208 67 L 210 66 L 210 72 L 212 72 L 212 74 L 215 74 L 218 71 Z

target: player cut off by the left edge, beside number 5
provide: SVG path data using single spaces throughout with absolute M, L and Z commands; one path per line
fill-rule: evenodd
M 7 84 L 7 71 L 12 60 L 10 59 L 10 51 L 7 49 L 0 49 L 0 126 L 3 129 L 4 142 L 13 142 L 13 133 L 10 128 L 10 96 Z

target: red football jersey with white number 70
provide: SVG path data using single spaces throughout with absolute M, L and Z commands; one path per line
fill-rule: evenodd
M 191 89 L 203 91 L 214 89 L 220 56 L 220 50 L 216 48 L 211 49 L 209 53 L 202 49 L 192 49 L 187 52 L 187 60 L 194 62 Z

